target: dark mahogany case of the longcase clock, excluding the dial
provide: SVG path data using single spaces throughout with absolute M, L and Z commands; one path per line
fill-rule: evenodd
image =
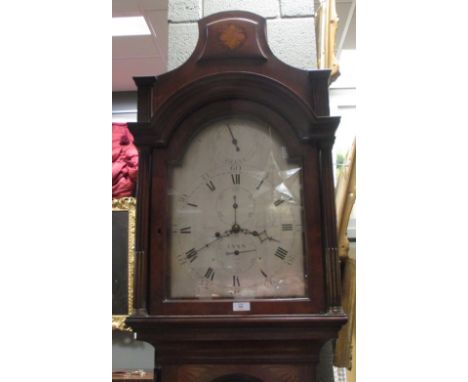
M 331 154 L 339 118 L 329 116 L 329 76 L 278 60 L 265 19 L 232 11 L 199 21 L 198 44 L 182 66 L 135 78 L 136 272 L 126 323 L 155 347 L 162 381 L 315 380 L 321 346 L 346 322 Z M 181 160 L 200 126 L 232 115 L 269 124 L 303 163 L 307 298 L 252 300 L 249 312 L 234 312 L 232 300 L 169 298 L 168 166 Z

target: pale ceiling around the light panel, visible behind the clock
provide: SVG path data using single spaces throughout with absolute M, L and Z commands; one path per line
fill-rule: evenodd
M 136 90 L 133 77 L 158 75 L 166 71 L 167 1 L 112 0 L 112 17 L 141 15 L 151 31 L 148 36 L 112 37 L 113 92 Z M 356 0 L 336 2 L 340 18 L 336 47 L 338 51 L 356 49 Z

